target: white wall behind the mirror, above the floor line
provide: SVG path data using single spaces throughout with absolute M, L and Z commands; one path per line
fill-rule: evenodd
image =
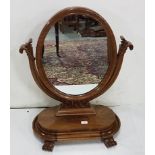
M 30 37 L 35 46 L 48 19 L 60 9 L 83 6 L 101 14 L 110 24 L 117 46 L 120 35 L 132 41 L 119 77 L 113 86 L 92 103 L 109 106 L 144 104 L 144 0 L 13 0 L 11 1 L 11 107 L 52 106 L 57 103 L 33 81 L 26 54 L 18 49 Z

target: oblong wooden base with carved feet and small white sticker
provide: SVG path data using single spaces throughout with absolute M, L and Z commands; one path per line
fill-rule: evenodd
M 113 135 L 120 128 L 120 120 L 108 107 L 93 106 L 96 115 L 56 116 L 58 106 L 43 110 L 33 121 L 34 133 L 43 141 L 43 150 L 52 151 L 56 141 L 101 138 L 106 147 L 117 143 Z

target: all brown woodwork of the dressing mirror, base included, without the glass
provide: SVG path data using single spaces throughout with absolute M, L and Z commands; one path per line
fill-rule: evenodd
M 97 87 L 81 95 L 70 95 L 51 85 L 45 75 L 41 59 L 44 39 L 50 28 L 64 16 L 79 14 L 79 12 L 96 19 L 103 26 L 108 39 L 109 67 Z M 66 8 L 47 22 L 38 39 L 36 57 L 33 55 L 32 39 L 20 47 L 19 52 L 25 51 L 28 55 L 31 73 L 37 85 L 47 95 L 62 102 L 60 106 L 43 110 L 33 121 L 34 132 L 44 140 L 44 150 L 52 151 L 56 141 L 99 137 L 107 147 L 116 145 L 113 135 L 119 130 L 119 118 L 105 106 L 94 105 L 91 107 L 89 101 L 104 93 L 114 83 L 121 69 L 127 48 L 132 50 L 133 45 L 121 36 L 121 43 L 117 52 L 115 37 L 109 24 L 96 12 L 83 7 Z M 70 115 L 73 116 L 70 117 Z

